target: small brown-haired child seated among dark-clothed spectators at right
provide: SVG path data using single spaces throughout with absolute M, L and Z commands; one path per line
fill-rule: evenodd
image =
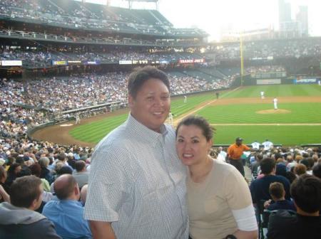
M 264 207 L 267 208 L 267 210 L 297 210 L 292 201 L 285 199 L 285 190 L 283 184 L 278 182 L 270 184 L 269 192 L 272 200 L 270 199 L 265 201 Z

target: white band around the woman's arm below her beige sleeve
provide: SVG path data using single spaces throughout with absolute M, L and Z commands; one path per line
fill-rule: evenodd
M 258 223 L 256 222 L 253 205 L 247 206 L 239 210 L 232 210 L 238 230 L 258 230 Z

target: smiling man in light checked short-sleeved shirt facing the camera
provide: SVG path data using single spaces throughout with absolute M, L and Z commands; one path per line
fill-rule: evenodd
M 151 66 L 131 73 L 120 127 L 91 160 L 85 218 L 94 238 L 188 238 L 186 171 L 175 149 L 170 84 Z

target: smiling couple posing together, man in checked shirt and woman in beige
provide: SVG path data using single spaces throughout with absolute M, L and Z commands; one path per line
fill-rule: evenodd
M 208 155 L 210 124 L 196 116 L 176 132 L 164 124 L 165 73 L 151 66 L 131 73 L 128 106 L 127 121 L 92 156 L 84 217 L 93 238 L 257 238 L 248 184 Z

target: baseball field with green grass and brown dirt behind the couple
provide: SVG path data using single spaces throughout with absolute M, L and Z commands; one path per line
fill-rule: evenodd
M 265 92 L 265 99 L 260 98 Z M 278 110 L 272 99 L 277 97 Z M 243 137 L 245 144 L 269 139 L 274 144 L 294 146 L 321 144 L 321 87 L 319 85 L 262 85 L 172 97 L 174 124 L 187 115 L 201 115 L 215 127 L 215 144 L 230 144 Z M 55 125 L 34 134 L 35 138 L 61 144 L 94 146 L 123 123 L 128 110 L 82 120 L 81 125 Z M 38 135 L 38 136 L 37 136 Z

